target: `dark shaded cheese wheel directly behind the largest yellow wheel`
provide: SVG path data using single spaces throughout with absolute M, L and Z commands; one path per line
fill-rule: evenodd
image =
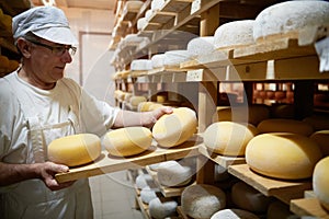
M 292 132 L 303 136 L 310 136 L 314 132 L 313 126 L 302 120 L 286 118 L 270 118 L 262 120 L 257 128 L 260 132 Z

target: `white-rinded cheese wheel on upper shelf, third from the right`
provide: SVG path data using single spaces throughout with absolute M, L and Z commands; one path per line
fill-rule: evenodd
M 189 42 L 186 49 L 193 56 L 211 54 L 215 50 L 214 36 L 201 36 L 193 38 Z

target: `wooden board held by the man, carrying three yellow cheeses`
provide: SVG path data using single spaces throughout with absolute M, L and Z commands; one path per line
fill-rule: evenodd
M 198 146 L 200 142 L 194 140 L 170 149 L 159 148 L 154 145 L 148 151 L 131 158 L 117 158 L 109 154 L 107 151 L 102 151 L 101 157 L 94 163 L 71 168 L 68 173 L 58 173 L 56 174 L 56 180 L 63 183 L 127 169 L 139 169 L 140 166 L 167 160 L 193 157 L 198 154 Z

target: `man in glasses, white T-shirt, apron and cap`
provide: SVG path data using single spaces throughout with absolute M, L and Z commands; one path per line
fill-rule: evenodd
M 113 108 L 64 78 L 77 39 L 64 12 L 32 8 L 13 18 L 21 67 L 0 80 L 0 218 L 92 218 L 88 180 L 59 184 L 68 166 L 47 161 L 47 145 L 78 132 L 147 126 L 171 108 Z

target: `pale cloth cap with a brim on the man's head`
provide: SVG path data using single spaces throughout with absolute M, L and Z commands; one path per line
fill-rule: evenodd
M 35 7 L 12 19 L 12 33 L 15 42 L 29 32 L 58 44 L 78 44 L 65 13 L 55 7 Z

